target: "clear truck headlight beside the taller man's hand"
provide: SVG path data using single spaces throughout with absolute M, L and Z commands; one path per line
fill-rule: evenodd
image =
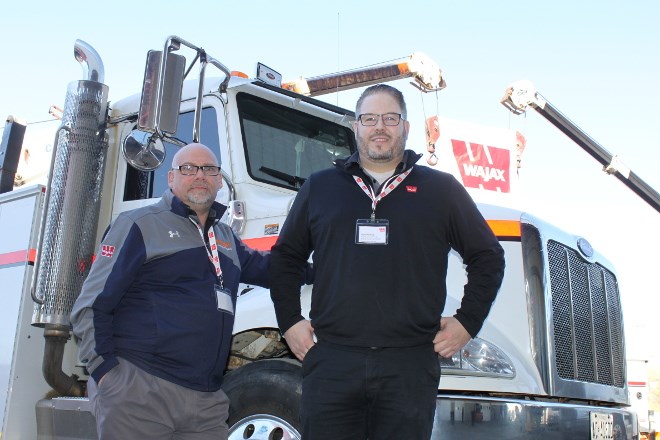
M 451 358 L 438 356 L 443 374 L 497 376 L 516 375 L 511 359 L 494 344 L 480 338 L 471 339 Z

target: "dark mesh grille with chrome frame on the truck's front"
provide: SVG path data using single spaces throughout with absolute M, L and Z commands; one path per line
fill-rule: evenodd
M 621 304 L 614 275 L 548 241 L 555 361 L 562 379 L 623 387 Z

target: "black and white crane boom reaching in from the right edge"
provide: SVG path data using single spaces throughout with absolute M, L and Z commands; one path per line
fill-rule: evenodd
M 635 194 L 660 212 L 660 196 L 658 192 L 638 175 L 630 170 L 618 156 L 612 155 L 587 133 L 564 116 L 556 107 L 550 104 L 534 85 L 529 81 L 518 81 L 507 87 L 500 102 L 514 114 L 525 113 L 527 107 L 532 107 L 541 116 L 557 127 L 573 142 L 589 153 L 603 165 L 603 171 L 623 182 Z

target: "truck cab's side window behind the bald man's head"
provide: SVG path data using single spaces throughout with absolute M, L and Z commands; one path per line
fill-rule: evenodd
M 186 112 L 179 115 L 179 125 L 174 135 L 185 143 L 192 142 L 195 113 Z M 220 156 L 220 140 L 218 137 L 218 118 L 213 107 L 202 109 L 202 124 L 200 141 Z M 160 197 L 167 189 L 167 172 L 172 164 L 172 157 L 179 147 L 165 142 L 165 162 L 154 171 L 139 171 L 128 166 L 126 169 L 126 186 L 124 201 L 142 200 Z

